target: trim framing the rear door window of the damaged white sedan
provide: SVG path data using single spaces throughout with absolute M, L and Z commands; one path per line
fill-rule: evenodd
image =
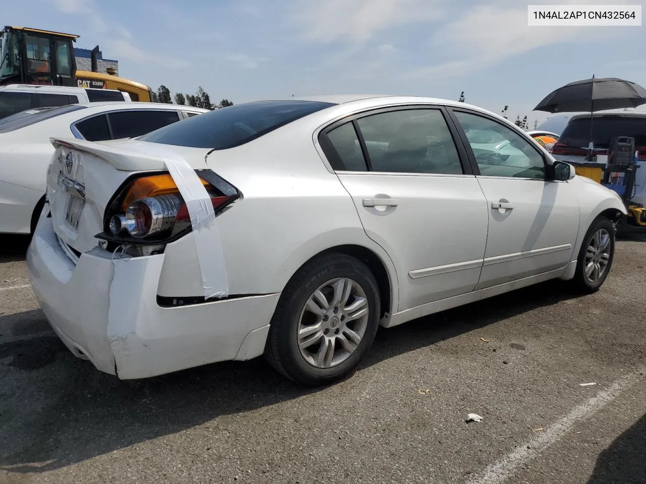
M 370 161 L 370 156 L 368 154 L 368 149 L 366 148 L 366 141 L 363 137 L 361 129 L 359 128 L 358 121 L 362 117 L 373 116 L 375 114 L 382 114 L 385 112 L 392 111 L 408 111 L 408 110 L 437 110 L 439 111 L 443 118 L 446 127 L 448 128 L 451 137 L 453 139 L 453 145 L 455 145 L 455 150 L 457 151 L 457 156 L 462 166 L 463 173 L 461 174 L 450 174 L 450 173 L 419 173 L 419 172 L 376 172 L 372 169 L 372 163 Z M 365 172 L 353 172 L 349 170 L 338 170 L 335 168 L 337 166 L 343 166 L 343 162 L 337 153 L 337 150 L 334 148 L 332 142 L 328 137 L 328 133 L 338 128 L 341 125 L 346 123 L 353 123 L 355 131 L 357 132 L 357 137 L 359 137 L 359 144 L 363 152 L 364 161 L 368 168 Z M 398 175 L 398 176 L 450 176 L 450 177 L 459 177 L 459 176 L 474 176 L 474 170 L 470 163 L 470 158 L 468 157 L 468 152 L 464 149 L 463 140 L 460 135 L 460 129 L 458 129 L 451 117 L 450 112 L 446 106 L 441 104 L 406 104 L 406 105 L 395 105 L 395 106 L 385 106 L 380 108 L 371 108 L 369 110 L 364 110 L 349 116 L 344 116 L 341 119 L 337 119 L 328 125 L 324 125 L 318 130 L 318 134 L 315 133 L 315 139 L 318 141 L 326 161 L 334 173 L 353 173 L 353 174 L 380 174 L 380 175 Z

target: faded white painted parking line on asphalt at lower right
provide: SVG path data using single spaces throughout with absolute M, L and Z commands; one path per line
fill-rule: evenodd
M 563 438 L 577 421 L 583 420 L 590 414 L 601 410 L 601 408 L 617 398 L 621 392 L 634 385 L 637 379 L 638 374 L 636 373 L 618 379 L 606 390 L 601 390 L 596 396 L 581 403 L 578 407 L 572 408 L 570 413 L 557 420 L 546 432 L 516 447 L 505 457 L 487 467 L 481 477 L 471 479 L 467 484 L 503 483 L 507 478 L 513 476 L 521 465 L 536 458 L 543 450 Z

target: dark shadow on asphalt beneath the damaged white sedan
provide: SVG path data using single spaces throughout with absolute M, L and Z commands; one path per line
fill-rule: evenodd
M 560 281 L 521 289 L 515 296 L 494 297 L 382 328 L 360 368 L 576 297 L 568 294 Z M 16 321 L 7 326 L 5 318 Z M 0 328 L 15 327 L 24 318 L 36 318 L 36 313 L 0 316 Z M 287 381 L 262 358 L 120 381 L 75 358 L 53 332 L 44 333 L 32 324 L 32 339 L 25 339 L 28 335 L 23 332 L 19 341 L 0 344 L 0 359 L 6 358 L 10 367 L 5 376 L 0 375 L 0 388 L 6 399 L 10 398 L 10 403 L 0 402 L 0 470 L 59 469 L 220 416 L 324 391 Z M 30 358 L 38 364 L 28 363 Z M 25 376 L 25 372 L 31 373 Z M 340 385 L 351 385 L 351 378 Z

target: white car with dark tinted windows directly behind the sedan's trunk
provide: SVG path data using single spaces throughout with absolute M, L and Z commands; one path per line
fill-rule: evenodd
M 50 137 L 136 137 L 205 111 L 114 101 L 37 108 L 0 119 L 0 233 L 33 231 L 45 203 L 47 166 L 54 153 Z

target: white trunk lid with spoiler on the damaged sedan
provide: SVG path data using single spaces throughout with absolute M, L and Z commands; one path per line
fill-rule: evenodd
M 52 139 L 52 145 L 55 151 L 47 172 L 50 216 L 59 243 L 72 260 L 98 245 L 95 236 L 103 232 L 105 209 L 130 175 L 164 170 L 165 156 L 181 156 L 193 168 L 208 168 L 204 162 L 208 150 L 201 148 L 132 140 Z

